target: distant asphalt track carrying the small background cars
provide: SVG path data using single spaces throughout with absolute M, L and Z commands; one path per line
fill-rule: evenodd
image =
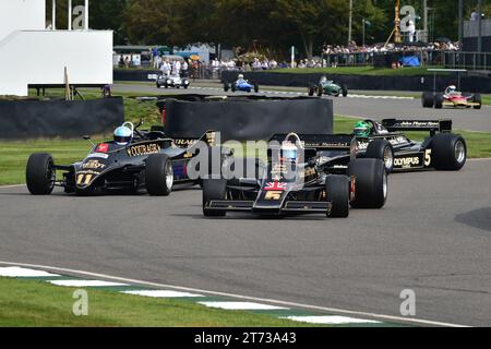
M 220 84 L 215 87 L 199 87 L 192 85 L 189 89 L 175 88 L 157 88 L 153 84 L 116 84 L 113 92 L 139 92 L 139 93 L 156 93 L 165 94 L 184 94 L 199 93 L 206 95 L 233 95 L 233 93 L 225 93 Z M 299 96 L 306 93 L 306 88 L 288 88 L 288 92 L 273 92 L 268 86 L 260 89 L 260 95 L 267 96 Z M 270 92 L 270 93 L 264 93 Z M 273 93 L 271 93 L 273 92 Z M 372 92 L 373 93 L 373 92 Z M 384 92 L 378 92 L 383 95 Z M 247 95 L 247 93 L 236 93 Z M 352 92 L 352 95 L 360 95 L 359 92 Z M 304 94 L 307 95 L 307 94 Z M 390 96 L 387 96 L 390 97 Z M 491 107 L 482 106 L 482 109 L 427 109 L 421 107 L 421 100 L 415 99 L 397 99 L 397 98 L 373 98 L 361 95 L 352 98 L 334 98 L 324 96 L 323 98 L 334 99 L 334 112 L 343 116 L 364 117 L 375 120 L 384 118 L 405 118 L 405 119 L 452 119 L 454 128 L 459 130 L 491 132 Z

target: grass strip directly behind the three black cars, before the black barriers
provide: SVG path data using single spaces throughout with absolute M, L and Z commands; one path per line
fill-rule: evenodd
M 350 133 L 357 119 L 347 117 L 334 118 L 335 133 Z M 467 141 L 468 157 L 491 157 L 491 133 L 455 130 Z M 422 141 L 428 133 L 407 132 L 411 140 Z M 109 136 L 109 135 L 107 135 Z M 94 142 L 105 137 L 95 139 Z M 83 140 L 40 140 L 0 142 L 0 185 L 25 183 L 25 165 L 32 153 L 51 153 L 56 164 L 65 165 L 83 158 L 91 146 Z M 236 146 L 236 155 L 242 156 L 241 146 Z M 264 153 L 264 149 L 262 151 Z M 258 154 L 264 157 L 264 154 Z M 254 156 L 248 153 L 247 156 Z

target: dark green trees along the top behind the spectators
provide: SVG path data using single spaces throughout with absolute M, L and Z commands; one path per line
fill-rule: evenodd
M 352 39 L 384 43 L 394 26 L 394 0 L 352 0 Z M 57 27 L 67 23 L 65 1 L 58 1 Z M 422 0 L 402 0 L 422 17 Z M 457 0 L 428 0 L 433 37 L 457 39 Z M 470 15 L 477 1 L 465 1 Z M 491 0 L 484 0 L 491 10 Z M 73 4 L 83 4 L 74 0 Z M 50 20 L 50 1 L 47 19 Z M 434 15 L 432 15 L 434 13 Z M 91 27 L 115 31 L 115 45 L 185 46 L 195 43 L 223 47 L 251 46 L 271 55 L 288 55 L 296 46 L 302 56 L 319 55 L 322 45 L 348 44 L 348 0 L 104 0 L 92 1 Z M 422 20 L 421 20 L 422 21 Z M 417 22 L 419 28 L 422 22 Z M 266 53 L 267 53 L 266 52 Z

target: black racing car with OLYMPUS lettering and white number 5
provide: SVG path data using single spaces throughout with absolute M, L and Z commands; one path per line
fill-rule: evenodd
M 402 131 L 424 131 L 430 136 L 411 141 Z M 464 137 L 452 133 L 452 120 L 359 121 L 354 135 L 360 157 L 379 158 L 387 172 L 436 169 L 456 171 L 467 159 Z

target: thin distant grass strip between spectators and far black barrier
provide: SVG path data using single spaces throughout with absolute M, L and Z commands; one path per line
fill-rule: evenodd
M 337 68 L 295 68 L 295 69 L 276 69 L 267 72 L 275 73 L 324 73 L 324 74 L 344 74 L 344 75 L 394 75 L 394 76 L 418 76 L 418 75 L 433 75 L 432 72 L 428 72 L 429 68 L 443 68 L 443 67 L 415 67 L 415 68 L 374 68 L 374 67 L 337 67 Z M 442 74 L 442 73 L 439 73 Z

